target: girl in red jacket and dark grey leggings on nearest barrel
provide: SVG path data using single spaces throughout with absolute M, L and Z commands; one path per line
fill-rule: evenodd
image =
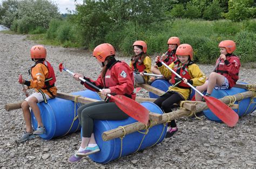
M 79 80 L 84 78 L 93 85 L 102 89 L 100 94 L 106 96 L 124 95 L 135 100 L 134 76 L 129 65 L 114 58 L 116 52 L 110 44 L 100 44 L 93 50 L 93 57 L 97 59 L 102 67 L 102 72 L 96 81 L 85 78 L 82 74 L 75 73 L 73 78 Z M 81 82 L 87 89 L 96 91 L 84 82 Z M 106 101 L 85 104 L 78 108 L 78 118 L 82 126 L 82 143 L 78 151 L 69 158 L 70 163 L 79 161 L 84 156 L 100 151 L 93 134 L 93 120 L 123 120 L 129 116 L 117 107 L 117 104 L 110 98 Z

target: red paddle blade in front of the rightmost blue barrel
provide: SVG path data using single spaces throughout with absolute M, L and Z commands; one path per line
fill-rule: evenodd
M 238 114 L 234 112 L 225 103 L 217 98 L 204 96 L 208 108 L 216 115 L 221 121 L 230 127 L 233 127 L 238 122 Z

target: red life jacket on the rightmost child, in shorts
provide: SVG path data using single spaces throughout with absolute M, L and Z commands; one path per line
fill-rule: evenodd
M 233 57 L 238 58 L 236 55 L 231 54 L 230 56 L 226 56 L 227 61 L 231 62 L 231 59 Z M 217 60 L 217 62 L 218 62 L 218 60 Z M 239 60 L 238 60 L 237 64 L 240 67 L 240 61 Z M 228 73 L 228 67 L 226 66 L 226 64 L 223 60 L 220 61 L 219 65 L 214 70 L 214 72 L 217 72 L 217 73 L 225 76 L 225 78 L 227 78 L 229 88 L 232 88 L 239 79 L 239 76 L 238 76 L 239 72 L 237 72 L 237 73 L 234 72 L 234 74 Z

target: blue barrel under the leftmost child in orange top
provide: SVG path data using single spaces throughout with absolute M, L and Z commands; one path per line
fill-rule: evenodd
M 77 91 L 72 94 L 101 100 L 100 96 L 95 91 L 91 90 Z M 46 129 L 45 134 L 39 135 L 41 138 L 49 140 L 80 130 L 81 127 L 78 118 L 73 122 L 74 117 L 77 116 L 77 112 L 76 115 L 74 112 L 75 104 L 73 101 L 56 97 L 48 100 L 47 104 L 41 102 L 37 105 L 40 109 L 42 121 Z M 77 103 L 76 110 L 79 106 L 80 103 Z M 33 128 L 36 129 L 37 121 L 32 110 L 31 117 Z

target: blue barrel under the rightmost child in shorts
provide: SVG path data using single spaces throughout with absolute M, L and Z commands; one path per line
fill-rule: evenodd
M 242 88 L 236 88 L 236 87 L 233 87 L 231 89 L 223 89 L 223 90 L 213 89 L 211 96 L 215 98 L 222 98 L 224 96 L 235 95 L 245 91 L 247 90 Z M 233 109 L 233 110 L 237 112 L 239 117 L 250 114 L 251 112 L 254 111 L 255 101 L 256 101 L 256 98 L 254 98 L 253 102 L 251 102 L 251 98 L 245 98 L 241 101 L 236 101 L 234 104 L 238 104 L 238 109 Z M 204 114 L 211 121 L 221 122 L 221 120 L 217 116 L 215 116 L 210 109 L 204 110 Z

